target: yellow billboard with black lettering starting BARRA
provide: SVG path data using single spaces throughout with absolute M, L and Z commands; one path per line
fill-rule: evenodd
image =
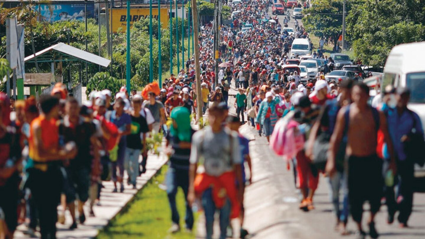
M 111 12 L 111 10 L 110 10 Z M 169 28 L 168 26 L 168 9 L 161 9 L 161 23 L 162 28 Z M 112 18 L 112 31 L 113 33 L 125 32 L 127 30 L 127 9 L 112 9 L 110 14 Z M 152 17 L 158 20 L 158 9 L 152 9 Z M 130 27 L 133 26 L 133 23 L 137 22 L 140 19 L 148 18 L 149 19 L 149 9 L 130 9 Z

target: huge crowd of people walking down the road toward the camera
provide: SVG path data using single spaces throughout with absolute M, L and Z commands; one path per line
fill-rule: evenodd
M 243 227 L 244 190 L 252 178 L 252 174 L 246 177 L 246 171 L 252 171 L 249 140 L 239 133 L 245 117 L 276 154 L 292 164 L 302 198 L 300 210 L 314 210 L 314 192 L 320 174 L 325 174 L 342 235 L 348 234 L 351 214 L 358 237 L 365 238 L 361 222 L 363 203 L 368 201 L 369 235 L 377 238 L 374 216 L 382 197 L 388 223 L 399 211 L 400 226 L 407 227 L 413 168 L 420 163 L 414 155 L 420 154 L 417 145 L 423 142 L 420 119 L 407 108 L 410 91 L 385 88 L 372 107 L 363 83 L 327 82 L 326 72 L 303 83 L 300 72 L 283 71 L 286 60 L 293 57 L 292 41 L 309 35 L 299 25 L 293 34 L 282 32 L 279 19 L 268 14 L 269 3 L 229 3 L 232 11 L 240 12 L 232 16 L 232 24 L 221 27 L 220 59 L 228 65 L 217 69 L 218 83 L 213 27 L 211 23 L 201 27 L 200 96 L 195 91 L 193 58 L 158 91 L 142 96 L 136 91 L 128 94 L 125 87 L 119 92 L 103 89 L 81 104 L 60 83 L 38 101 L 29 97 L 14 102 L 0 93 L 0 195 L 8 195 L 0 196 L 0 238 L 13 238 L 17 225 L 27 223 L 25 233 L 34 236 L 39 226 L 42 239 L 54 239 L 56 222 L 65 223 L 66 210 L 72 218 L 69 229 L 77 228 L 77 222 L 86 220 L 85 203 L 89 216 L 95 216 L 102 181 L 112 180 L 114 193 L 125 191 L 125 184 L 136 188 L 137 177 L 146 172 L 146 139 L 159 132 L 169 156 L 164 185 L 171 209 L 170 233 L 181 230 L 176 208 L 180 187 L 186 197 L 187 231 L 193 229 L 193 208 L 199 206 L 205 213 L 207 239 L 212 238 L 216 210 L 220 239 L 229 236 L 230 219 L 236 218 L 244 238 L 248 234 Z M 251 29 L 242 32 L 244 26 Z M 321 51 L 314 57 L 325 58 Z M 331 71 L 332 59 L 327 61 Z M 236 116 L 229 114 L 233 85 Z M 199 131 L 192 127 L 199 117 L 197 104 L 203 114 L 208 112 L 208 126 Z

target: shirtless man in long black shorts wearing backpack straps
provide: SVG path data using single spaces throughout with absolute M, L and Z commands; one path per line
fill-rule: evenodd
M 368 220 L 369 235 L 377 238 L 374 218 L 380 208 L 382 192 L 382 160 L 376 155 L 377 131 L 380 129 L 391 152 L 391 169 L 395 171 L 395 160 L 391 139 L 388 134 L 385 114 L 371 108 L 367 101 L 369 88 L 364 83 L 354 85 L 353 103 L 338 112 L 335 131 L 329 146 L 327 173 L 335 173 L 335 156 L 342 140 L 346 140 L 348 158 L 348 201 L 351 215 L 357 224 L 357 238 L 364 239 L 362 228 L 363 203 L 369 201 L 371 216 Z

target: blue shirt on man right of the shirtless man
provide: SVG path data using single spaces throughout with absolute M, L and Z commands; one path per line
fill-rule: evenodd
M 413 117 L 415 117 L 415 119 Z M 401 138 L 404 135 L 409 134 L 412 128 L 416 128 L 416 132 L 423 134 L 421 120 L 414 112 L 405 110 L 401 115 L 399 115 L 397 109 L 388 108 L 387 122 L 388 132 L 390 133 L 391 140 L 393 142 L 394 152 L 400 161 L 404 161 L 407 158 L 407 155 L 404 151 L 404 144 L 401 142 Z

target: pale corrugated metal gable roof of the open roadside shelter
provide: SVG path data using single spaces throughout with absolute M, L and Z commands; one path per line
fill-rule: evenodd
M 101 65 L 103 67 L 107 67 L 109 63 L 111 63 L 111 60 L 108 60 L 103 57 L 99 57 L 95 54 L 91 54 L 90 52 L 80 50 L 78 48 L 75 48 L 73 46 L 66 45 L 65 43 L 57 43 L 54 46 L 45 48 L 42 51 L 37 52 L 35 55 L 41 56 L 42 54 L 45 54 L 49 51 L 58 51 L 62 54 L 68 55 L 70 57 L 77 58 L 79 60 L 87 61 L 89 63 L 94 63 L 96 65 Z M 28 57 L 25 57 L 25 61 L 29 61 L 34 59 L 34 54 L 29 55 Z

